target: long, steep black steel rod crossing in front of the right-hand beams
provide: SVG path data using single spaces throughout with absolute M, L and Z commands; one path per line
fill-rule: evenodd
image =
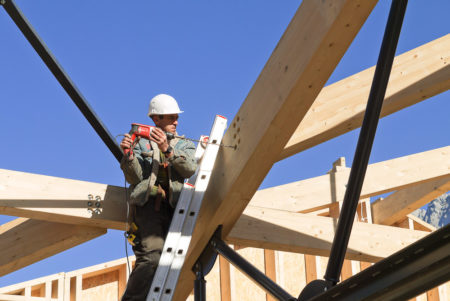
M 339 282 L 407 3 L 407 0 L 393 0 L 389 12 L 366 113 L 325 273 L 325 280 L 332 285 Z

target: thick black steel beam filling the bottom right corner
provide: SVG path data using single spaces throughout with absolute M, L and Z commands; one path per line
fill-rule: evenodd
M 450 280 L 450 225 L 309 301 L 408 300 Z

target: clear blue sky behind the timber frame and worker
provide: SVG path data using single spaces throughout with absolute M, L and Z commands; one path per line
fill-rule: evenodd
M 215 114 L 234 117 L 300 2 L 16 0 L 113 135 L 149 123 L 149 99 L 168 93 L 185 111 L 179 132 L 193 138 L 209 133 Z M 390 2 L 380 0 L 329 83 L 376 63 Z M 410 1 L 397 53 L 448 34 L 449 11 L 448 0 Z M 0 168 L 123 185 L 116 159 L 3 9 L 0 46 Z M 382 119 L 370 161 L 448 145 L 449 98 Z M 358 133 L 275 164 L 262 187 L 322 175 L 341 156 L 351 164 Z M 122 233 L 110 230 L 0 287 L 123 256 Z

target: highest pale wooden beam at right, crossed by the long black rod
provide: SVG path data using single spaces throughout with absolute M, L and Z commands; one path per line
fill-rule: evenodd
M 381 117 L 450 88 L 450 34 L 395 58 Z M 359 128 L 375 67 L 322 89 L 278 160 Z

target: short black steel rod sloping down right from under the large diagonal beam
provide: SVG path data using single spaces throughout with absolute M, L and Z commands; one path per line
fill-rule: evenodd
M 288 292 L 283 290 L 278 284 L 273 282 L 269 277 L 255 268 L 251 263 L 231 249 L 222 239 L 213 236 L 210 241 L 212 247 L 230 263 L 238 268 L 242 273 L 250 277 L 257 285 L 259 285 L 267 293 L 271 294 L 278 300 L 297 300 Z

